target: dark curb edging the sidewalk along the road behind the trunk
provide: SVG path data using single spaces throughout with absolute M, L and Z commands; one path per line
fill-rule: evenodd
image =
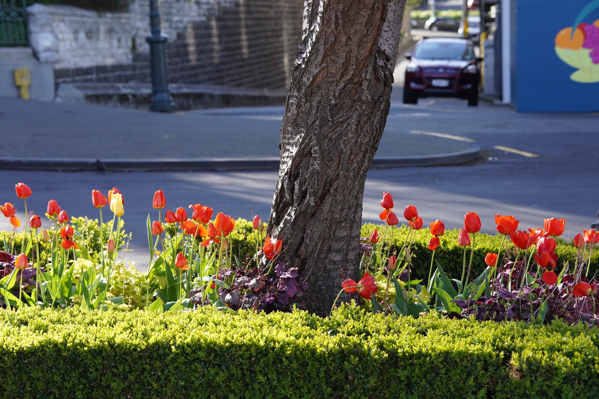
M 470 145 L 458 153 L 414 157 L 375 158 L 371 169 L 410 166 L 444 166 L 472 162 L 481 157 L 481 148 Z M 49 170 L 54 172 L 231 172 L 279 170 L 278 158 L 252 159 L 60 159 L 0 157 L 2 170 Z

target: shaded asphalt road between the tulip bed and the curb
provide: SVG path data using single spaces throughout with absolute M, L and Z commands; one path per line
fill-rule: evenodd
M 465 100 L 420 99 L 404 106 L 401 87 L 388 126 L 415 135 L 452 135 L 475 141 L 486 157 L 475 165 L 371 170 L 364 193 L 364 221 L 378 221 L 382 191 L 394 195 L 396 208 L 418 207 L 425 223 L 442 220 L 448 228 L 461 227 L 465 212 L 477 212 L 483 232 L 493 232 L 495 214 L 515 215 L 521 227 L 540 227 L 544 218 L 566 219 L 564 237 L 588 229 L 599 210 L 599 115 L 519 114 L 503 106 L 482 103 L 468 108 Z M 395 116 L 393 116 L 395 115 Z M 500 149 L 496 148 L 500 147 Z M 276 173 L 58 173 L 0 171 L 0 202 L 22 203 L 14 184 L 26 182 L 34 195 L 29 209 L 43 214 L 56 199 L 69 215 L 97 217 L 90 192 L 118 187 L 125 197 L 125 226 L 133 233 L 134 251 L 125 261 L 147 265 L 145 222 L 157 217 L 152 196 L 161 188 L 167 208 L 201 203 L 232 217 L 267 219 Z M 21 217 L 22 217 L 21 213 Z M 0 228 L 8 227 L 0 218 Z M 146 263 L 144 263 L 146 262 Z

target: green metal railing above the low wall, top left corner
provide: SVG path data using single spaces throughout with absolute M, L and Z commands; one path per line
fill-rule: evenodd
M 25 0 L 0 0 L 0 47 L 28 45 Z

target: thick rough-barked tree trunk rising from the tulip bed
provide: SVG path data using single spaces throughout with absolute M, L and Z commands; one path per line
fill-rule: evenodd
M 281 128 L 268 233 L 327 315 L 341 270 L 358 278 L 362 197 L 379 147 L 406 0 L 304 0 L 304 29 Z

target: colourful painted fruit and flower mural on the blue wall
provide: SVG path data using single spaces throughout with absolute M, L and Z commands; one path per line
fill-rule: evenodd
M 599 8 L 599 0 L 591 1 L 580 11 L 573 25 L 555 36 L 555 53 L 559 59 L 576 68 L 570 79 L 579 83 L 599 82 L 599 19 L 582 21 Z

